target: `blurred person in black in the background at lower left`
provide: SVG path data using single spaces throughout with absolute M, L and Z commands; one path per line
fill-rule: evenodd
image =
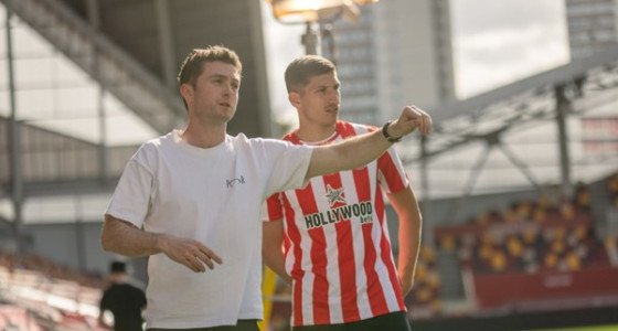
M 111 285 L 103 292 L 99 303 L 98 321 L 110 327 L 104 319 L 105 311 L 114 314 L 115 331 L 143 330 L 142 310 L 146 308 L 146 295 L 140 288 L 129 284 L 127 267 L 122 261 L 114 261 L 109 267 Z

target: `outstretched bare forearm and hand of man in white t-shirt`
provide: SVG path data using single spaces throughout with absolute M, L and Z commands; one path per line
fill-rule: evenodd
M 399 118 L 388 126 L 387 131 L 392 137 L 403 137 L 416 128 L 423 135 L 428 135 L 431 130 L 431 118 L 427 113 L 412 106 L 404 108 Z M 317 147 L 305 179 L 360 168 L 379 158 L 391 145 L 382 131 L 375 130 L 339 143 Z

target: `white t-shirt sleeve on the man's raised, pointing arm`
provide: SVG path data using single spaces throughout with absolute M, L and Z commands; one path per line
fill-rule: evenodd
M 273 166 L 267 182 L 266 196 L 276 192 L 300 189 L 311 162 L 312 147 L 269 140 L 269 162 Z

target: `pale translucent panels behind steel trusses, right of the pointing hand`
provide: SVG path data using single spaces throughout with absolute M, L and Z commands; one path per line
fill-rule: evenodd
M 618 164 L 618 45 L 430 113 L 425 151 L 398 149 L 426 196 L 595 180 Z

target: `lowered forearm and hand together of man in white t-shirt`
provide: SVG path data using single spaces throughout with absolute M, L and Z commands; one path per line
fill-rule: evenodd
M 204 264 L 212 269 L 213 260 L 222 263 L 221 257 L 198 241 L 145 232 L 109 214 L 105 215 L 100 243 L 104 250 L 125 256 L 164 253 L 170 259 L 195 273 L 205 271 Z

